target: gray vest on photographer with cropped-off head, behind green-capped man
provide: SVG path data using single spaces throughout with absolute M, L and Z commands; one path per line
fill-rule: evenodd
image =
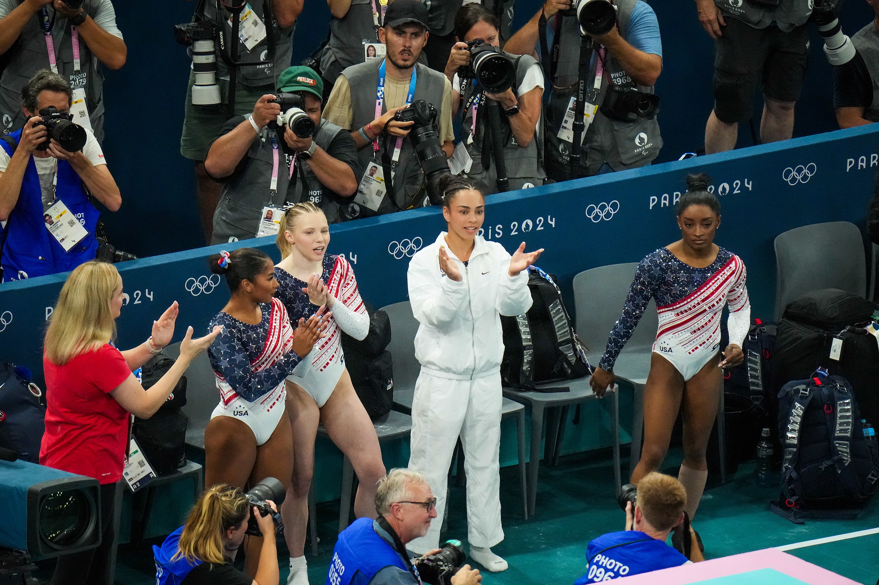
M 205 18 L 213 20 L 216 25 L 222 26 L 223 38 L 232 38 L 232 25 L 229 24 L 229 18 L 232 13 L 218 6 L 219 0 L 208 0 L 205 4 Z M 253 12 L 263 21 L 266 28 L 272 26 L 275 38 L 275 58 L 273 63 L 266 65 L 255 65 L 250 67 L 239 67 L 236 72 L 238 83 L 249 87 L 257 87 L 259 85 L 272 85 L 274 87 L 275 77 L 290 67 L 290 60 L 293 58 L 293 31 L 296 28 L 294 23 L 288 28 L 281 28 L 272 15 L 268 15 L 271 23 L 265 21 L 263 14 L 263 0 L 250 0 L 248 3 Z M 246 10 L 246 9 L 245 9 Z M 268 43 L 266 39 L 261 40 L 252 51 L 248 51 L 247 47 L 241 40 L 238 43 L 238 61 L 254 62 L 263 61 L 266 58 Z M 216 41 L 217 48 L 217 77 L 220 79 L 229 79 L 229 65 L 222 58 L 220 50 L 220 41 Z M 229 46 L 226 51 L 229 54 Z M 223 97 L 225 99 L 225 96 Z

